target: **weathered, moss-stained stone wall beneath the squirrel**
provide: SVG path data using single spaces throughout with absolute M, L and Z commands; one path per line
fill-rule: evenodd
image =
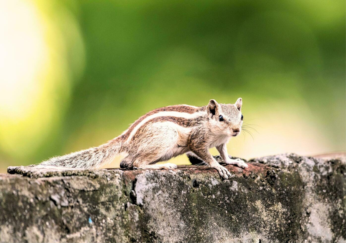
M 295 154 L 246 170 L 10 167 L 0 242 L 345 242 L 345 157 Z

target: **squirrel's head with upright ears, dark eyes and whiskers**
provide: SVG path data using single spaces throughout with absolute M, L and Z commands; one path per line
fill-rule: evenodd
M 211 131 L 219 135 L 237 136 L 242 130 L 243 115 L 242 98 L 234 104 L 219 104 L 216 100 L 210 100 L 207 106 L 207 114 Z

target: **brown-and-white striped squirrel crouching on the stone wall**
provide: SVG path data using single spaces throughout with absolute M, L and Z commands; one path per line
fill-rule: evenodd
M 175 105 L 155 109 L 141 116 L 120 136 L 98 147 L 53 157 L 42 165 L 72 168 L 98 168 L 110 162 L 117 154 L 125 153 L 120 168 L 175 169 L 176 164 L 166 161 L 186 153 L 215 168 L 224 179 L 229 171 L 210 154 L 216 147 L 226 164 L 241 168 L 248 165 L 241 159 L 230 159 L 226 144 L 240 134 L 243 125 L 242 98 L 234 104 L 209 101 L 207 106 Z

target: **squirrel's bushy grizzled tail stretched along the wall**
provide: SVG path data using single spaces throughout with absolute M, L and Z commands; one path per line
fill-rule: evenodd
M 108 143 L 98 147 L 88 148 L 71 154 L 53 157 L 43 161 L 42 165 L 55 165 L 70 168 L 98 168 L 106 162 L 110 162 L 118 153 L 120 153 L 121 141 L 115 138 Z

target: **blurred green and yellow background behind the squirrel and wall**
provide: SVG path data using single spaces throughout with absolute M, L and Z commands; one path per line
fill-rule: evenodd
M 0 172 L 238 97 L 231 155 L 345 151 L 345 0 L 1 1 L 0 30 Z

